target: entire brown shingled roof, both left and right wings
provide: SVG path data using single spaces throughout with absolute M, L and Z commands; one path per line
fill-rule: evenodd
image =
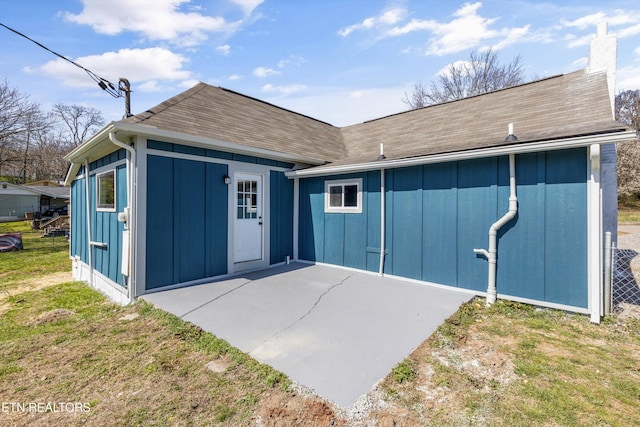
M 199 83 L 125 123 L 153 126 L 333 164 L 496 147 L 514 123 L 519 144 L 623 130 L 605 72 L 577 71 L 338 128 L 227 89 Z

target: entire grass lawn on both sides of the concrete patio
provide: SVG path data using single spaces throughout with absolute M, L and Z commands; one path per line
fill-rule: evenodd
M 144 301 L 52 285 L 70 269 L 64 240 L 0 227 L 25 242 L 0 253 L 0 425 L 640 425 L 637 319 L 475 299 L 349 414 Z M 59 406 L 16 406 L 29 403 Z

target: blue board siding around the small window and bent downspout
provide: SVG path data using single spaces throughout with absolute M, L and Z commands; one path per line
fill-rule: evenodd
M 361 214 L 325 213 L 325 179 L 362 178 Z M 389 169 L 384 272 L 484 292 L 488 230 L 508 210 L 508 157 Z M 516 156 L 518 213 L 498 234 L 500 295 L 586 308 L 587 153 Z M 300 180 L 299 257 L 377 271 L 380 173 Z

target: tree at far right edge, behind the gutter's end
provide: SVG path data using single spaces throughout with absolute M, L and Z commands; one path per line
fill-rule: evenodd
M 640 131 L 640 90 L 627 90 L 616 96 L 616 120 Z M 640 197 L 640 144 L 618 144 L 618 198 L 626 203 Z

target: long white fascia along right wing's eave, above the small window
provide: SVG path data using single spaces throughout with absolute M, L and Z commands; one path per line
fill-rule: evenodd
M 433 154 L 429 156 L 411 157 L 407 159 L 382 160 L 351 165 L 327 166 L 319 168 L 301 169 L 285 172 L 288 178 L 311 178 L 316 176 L 336 175 L 343 173 L 367 172 L 379 169 L 401 168 L 408 166 L 444 163 L 457 160 L 471 160 L 486 157 L 504 156 L 509 154 L 535 153 L 540 151 L 562 150 L 567 148 L 588 147 L 593 144 L 614 144 L 626 142 L 636 138 L 635 131 L 623 131 L 598 135 L 587 135 L 565 139 L 555 139 L 508 145 L 500 147 L 482 148 L 478 150 L 456 151 L 452 153 Z

